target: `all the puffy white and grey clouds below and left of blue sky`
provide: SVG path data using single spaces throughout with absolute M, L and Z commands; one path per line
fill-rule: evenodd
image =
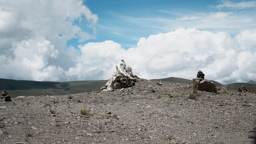
M 28 8 L 28 10 L 22 7 Z M 214 13 L 214 18 L 227 17 Z M 183 17 L 196 20 L 199 17 Z M 83 29 L 75 22 L 84 22 Z M 0 74 L 16 80 L 106 80 L 125 60 L 140 78 L 192 79 L 198 70 L 222 84 L 256 80 L 256 28 L 236 36 L 196 28 L 140 38 L 125 50 L 112 40 L 66 48 L 95 38 L 98 16 L 81 0 L 0 0 Z

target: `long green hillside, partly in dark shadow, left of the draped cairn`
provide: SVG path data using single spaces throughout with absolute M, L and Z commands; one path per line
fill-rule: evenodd
M 8 91 L 11 97 L 65 95 L 91 92 L 104 86 L 107 80 L 85 80 L 72 82 L 38 82 L 0 78 L 0 90 Z

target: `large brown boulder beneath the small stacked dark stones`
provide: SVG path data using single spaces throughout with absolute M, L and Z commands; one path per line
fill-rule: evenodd
M 192 79 L 193 88 L 196 90 L 203 90 L 206 92 L 217 92 L 216 86 L 209 80 L 203 80 L 202 78 Z

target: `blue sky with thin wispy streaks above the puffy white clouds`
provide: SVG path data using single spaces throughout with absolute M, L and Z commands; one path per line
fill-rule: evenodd
M 193 28 L 198 30 L 210 30 L 212 32 L 225 31 L 235 36 L 240 30 L 254 28 L 255 23 L 238 28 L 227 26 L 201 26 L 200 21 L 179 20 L 185 16 L 205 16 L 210 12 L 230 12 L 230 16 L 253 17 L 255 18 L 255 7 L 248 8 L 215 8 L 225 2 L 238 4 L 239 2 L 253 1 L 223 1 L 223 0 L 84 0 L 90 10 L 98 15 L 95 38 L 86 42 L 78 43 L 73 38 L 67 45 L 78 46 L 87 42 L 102 42 L 113 40 L 122 44 L 125 49 L 136 47 L 141 37 L 148 37 L 151 34 L 166 33 L 177 28 Z M 175 22 L 176 21 L 176 22 Z M 172 23 L 173 22 L 173 23 Z M 88 29 L 86 22 L 74 22 L 74 24 Z M 220 23 L 221 25 L 221 23 Z

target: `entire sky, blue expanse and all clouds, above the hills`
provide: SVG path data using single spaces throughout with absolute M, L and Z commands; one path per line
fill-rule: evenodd
M 1 78 L 256 81 L 256 0 L 0 0 Z

